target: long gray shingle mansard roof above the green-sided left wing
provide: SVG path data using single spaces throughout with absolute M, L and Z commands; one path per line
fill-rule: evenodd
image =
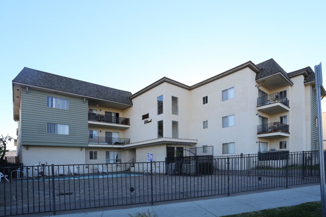
M 12 81 L 132 105 L 131 92 L 26 67 Z

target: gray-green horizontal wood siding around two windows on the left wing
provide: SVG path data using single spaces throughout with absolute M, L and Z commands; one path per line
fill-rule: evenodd
M 69 110 L 46 107 L 46 96 L 69 100 Z M 88 102 L 83 98 L 22 88 L 22 144 L 87 146 Z M 46 133 L 46 123 L 69 125 L 69 135 Z

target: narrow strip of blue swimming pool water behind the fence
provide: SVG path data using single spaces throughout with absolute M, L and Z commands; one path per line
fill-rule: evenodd
M 68 180 L 68 179 L 98 179 L 98 178 L 121 178 L 121 177 L 135 177 L 135 176 L 143 176 L 144 174 L 141 173 L 126 173 L 126 172 L 120 172 L 120 173 L 107 173 L 107 174 L 89 174 L 89 175 L 67 175 L 67 176 L 60 176 L 60 177 L 54 177 L 54 180 Z M 36 178 L 36 177 L 35 177 Z M 39 178 L 40 181 L 49 181 L 52 180 L 51 176 L 48 176 L 47 178 Z M 26 180 L 25 180 L 26 181 Z M 33 181 L 32 179 L 29 179 L 28 181 Z M 37 181 L 37 178 L 36 180 Z

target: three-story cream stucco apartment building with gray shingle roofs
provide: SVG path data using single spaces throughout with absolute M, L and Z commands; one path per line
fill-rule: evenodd
M 25 165 L 309 151 L 318 141 L 314 72 L 286 73 L 273 59 L 193 86 L 163 77 L 134 94 L 29 68 L 12 84 Z

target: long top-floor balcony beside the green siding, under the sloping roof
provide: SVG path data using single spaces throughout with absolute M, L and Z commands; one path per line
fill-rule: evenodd
M 88 113 L 88 125 L 91 127 L 125 129 L 130 127 L 130 118 Z

